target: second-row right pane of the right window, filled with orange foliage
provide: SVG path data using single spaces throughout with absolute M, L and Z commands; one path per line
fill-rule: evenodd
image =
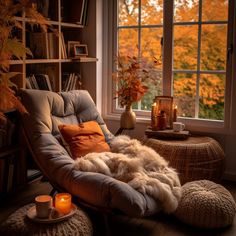
M 201 46 L 201 69 L 225 70 L 226 47 L 226 25 L 203 25 Z

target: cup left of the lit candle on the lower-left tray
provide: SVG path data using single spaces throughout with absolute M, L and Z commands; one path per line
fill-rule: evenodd
M 48 218 L 53 207 L 52 197 L 39 195 L 35 198 L 36 215 L 38 218 Z

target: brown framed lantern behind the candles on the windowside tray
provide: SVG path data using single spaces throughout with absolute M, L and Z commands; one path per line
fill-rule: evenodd
M 156 106 L 156 113 L 165 113 L 166 115 L 166 127 L 171 129 L 173 126 L 173 97 L 171 96 L 156 96 L 154 98 L 154 104 Z

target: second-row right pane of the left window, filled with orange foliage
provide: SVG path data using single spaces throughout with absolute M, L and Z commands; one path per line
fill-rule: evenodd
M 141 55 L 150 62 L 156 58 L 158 69 L 162 69 L 162 33 L 162 28 L 145 28 L 141 31 Z

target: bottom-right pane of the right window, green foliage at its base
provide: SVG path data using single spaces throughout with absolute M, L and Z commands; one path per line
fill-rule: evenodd
M 225 75 L 201 75 L 199 118 L 224 119 Z

